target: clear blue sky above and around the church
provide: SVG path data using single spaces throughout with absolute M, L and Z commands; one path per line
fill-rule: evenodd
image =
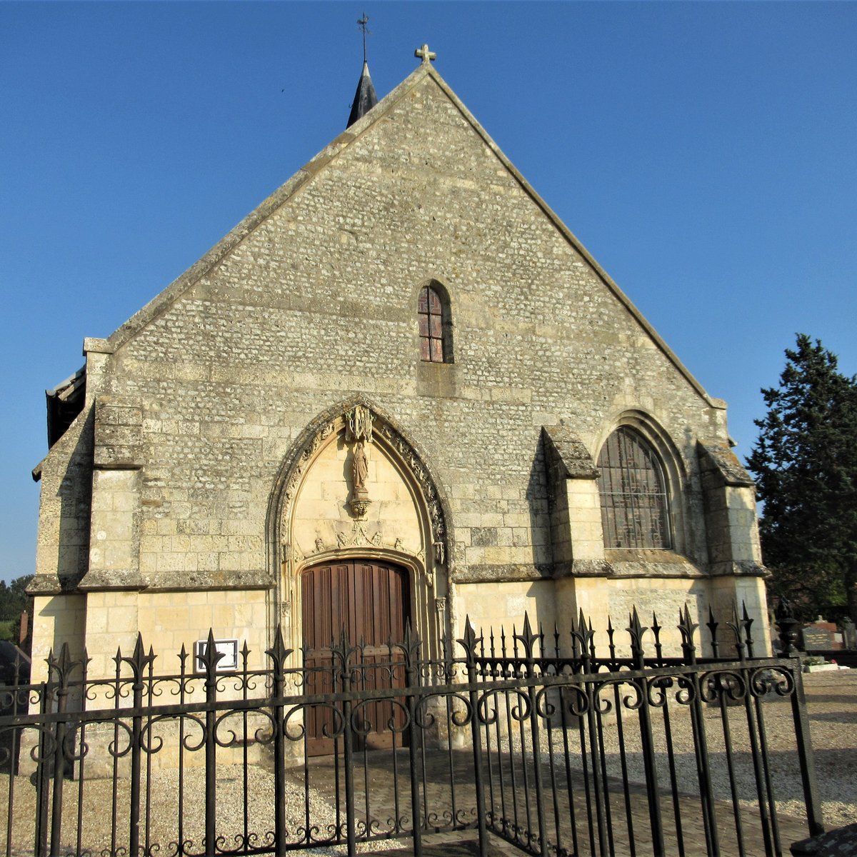
M 440 74 L 746 455 L 794 333 L 857 372 L 857 3 L 0 3 L 0 578 L 45 387 L 379 95 Z

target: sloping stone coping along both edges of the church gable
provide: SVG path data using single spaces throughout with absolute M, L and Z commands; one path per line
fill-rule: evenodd
M 195 264 L 189 267 L 188 270 L 180 277 L 175 279 L 171 285 L 167 286 L 164 291 L 161 291 L 159 295 L 154 297 L 146 304 L 146 306 L 135 313 L 135 315 L 132 315 L 131 318 L 121 327 L 117 328 L 117 330 L 111 334 L 110 338 L 106 340 L 108 350 L 116 351 L 117 348 L 124 345 L 129 341 L 129 339 L 133 339 L 135 334 L 139 333 L 141 329 L 146 327 L 150 321 L 153 321 L 153 319 L 165 312 L 165 310 L 168 309 L 184 291 L 187 291 L 195 285 L 201 277 L 205 276 L 215 265 L 229 255 L 231 250 L 235 249 L 244 238 L 248 237 L 257 226 L 261 225 L 261 223 L 263 223 L 270 215 L 290 201 L 306 183 L 310 182 L 316 174 L 324 170 L 333 159 L 337 158 L 340 153 L 349 147 L 351 142 L 363 135 L 366 131 L 372 128 L 375 123 L 384 117 L 387 112 L 393 110 L 395 106 L 399 105 L 400 100 L 427 77 L 434 81 L 434 83 L 440 88 L 441 92 L 446 95 L 446 98 L 452 102 L 452 105 L 456 107 L 461 116 L 464 117 L 464 120 L 470 125 L 476 134 L 481 137 L 485 145 L 488 146 L 488 148 L 494 153 L 495 157 L 518 183 L 521 189 L 524 190 L 524 193 L 530 197 L 530 199 L 554 225 L 556 230 L 559 231 L 566 241 L 572 245 L 572 248 L 575 249 L 590 265 L 598 278 L 602 280 L 602 283 L 607 286 L 608 290 L 613 293 L 614 297 L 616 297 L 622 306 L 625 307 L 627 312 L 632 315 L 632 318 L 638 322 L 639 326 L 644 329 L 645 333 L 648 334 L 657 348 L 662 351 L 670 363 L 673 363 L 675 369 L 678 369 L 686 381 L 693 387 L 699 396 L 704 399 L 705 403 L 711 407 L 725 407 L 720 399 L 710 398 L 708 393 L 705 392 L 704 387 L 702 387 L 690 371 L 686 369 L 679 358 L 675 356 L 674 352 L 661 339 L 649 322 L 645 320 L 644 316 L 634 306 L 626 294 L 614 283 L 608 273 L 596 262 L 592 255 L 590 255 L 589 251 L 584 248 L 583 244 L 580 243 L 578 238 L 560 220 L 548 204 L 542 200 L 542 197 L 536 193 L 526 179 L 518 172 L 512 162 L 506 158 L 506 155 L 502 153 L 500 147 L 491 139 L 485 129 L 482 128 L 482 125 L 478 123 L 476 117 L 470 113 L 462 101 L 458 99 L 458 96 L 452 92 L 452 89 L 448 86 L 446 81 L 443 80 L 443 78 L 434 69 L 434 66 L 430 63 L 421 63 L 417 69 L 411 73 L 411 75 L 408 75 L 408 77 L 399 84 L 398 87 L 393 89 L 391 93 L 388 93 L 365 116 L 358 119 L 357 122 L 352 124 L 347 130 L 340 134 L 339 137 L 322 149 L 320 153 L 315 155 L 315 158 L 309 160 L 309 162 L 298 170 L 294 176 L 292 176 L 279 189 L 275 190 L 272 195 L 267 197 L 267 199 L 261 203 L 260 206 L 256 207 L 255 210 L 249 213 L 247 217 L 245 217 L 234 229 L 228 232 L 226 236 L 215 244 L 214 247 L 205 255 L 203 255 L 199 261 L 195 262 Z

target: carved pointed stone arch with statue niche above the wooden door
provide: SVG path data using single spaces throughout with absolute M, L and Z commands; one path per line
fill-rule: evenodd
M 316 507 L 321 518 L 308 524 Z M 301 644 L 304 569 L 362 558 L 408 570 L 412 618 L 434 649 L 452 594 L 448 520 L 430 465 L 391 417 L 362 396 L 319 414 L 285 457 L 268 502 L 272 632 L 279 622 L 287 644 Z

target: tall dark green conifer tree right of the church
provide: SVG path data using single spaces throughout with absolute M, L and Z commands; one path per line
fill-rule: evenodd
M 767 416 L 747 458 L 773 589 L 803 618 L 857 621 L 857 378 L 836 355 L 798 334 L 780 386 L 762 391 Z

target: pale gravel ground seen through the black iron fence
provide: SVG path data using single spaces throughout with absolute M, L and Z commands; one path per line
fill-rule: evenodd
M 837 827 L 857 820 L 857 670 L 842 670 L 836 673 L 818 673 L 804 676 L 812 744 L 815 749 L 818 791 L 824 813 L 824 824 Z M 795 817 L 803 815 L 800 771 L 794 752 L 794 729 L 792 728 L 791 705 L 788 699 L 770 699 L 762 703 L 764 723 L 770 748 L 770 769 L 777 807 L 780 812 Z M 690 718 L 687 707 L 670 706 L 670 727 L 675 747 L 676 777 L 680 791 L 694 794 L 696 765 L 692 754 Z M 642 754 L 639 752 L 636 721 L 633 712 L 626 712 L 626 766 L 633 781 L 643 781 Z M 656 715 L 657 717 L 658 715 Z M 731 730 L 733 761 L 739 796 L 742 804 L 752 806 L 757 802 L 752 770 L 752 756 L 746 749 L 748 731 L 746 712 L 741 706 L 727 710 Z M 723 752 L 722 712 L 714 706 L 704 710 L 704 721 L 712 753 L 712 782 L 717 797 L 728 799 L 729 780 L 726 754 Z M 662 720 L 656 719 L 656 734 L 662 734 Z M 621 774 L 621 759 L 616 741 L 616 722 L 607 721 L 605 730 L 605 752 L 608 773 Z M 636 741 L 636 743 L 635 743 Z M 740 748 L 740 749 L 735 749 Z M 663 749 L 663 746 L 662 746 Z M 667 755 L 659 754 L 659 780 L 662 787 L 668 786 Z M 248 830 L 273 830 L 273 775 L 262 766 L 248 769 Z M 297 775 L 296 775 L 297 783 Z M 92 780 L 86 783 L 86 795 L 82 809 L 84 818 L 85 846 L 93 850 L 110 848 L 110 807 L 112 782 L 109 779 Z M 127 806 L 128 780 L 119 781 L 119 803 Z M 218 829 L 241 831 L 244 829 L 243 769 L 237 765 L 219 766 L 218 776 Z M 8 806 L 9 780 L 0 777 L 0 806 Z M 205 793 L 203 770 L 188 769 L 183 786 L 183 837 L 201 842 L 204 827 Z M 315 836 L 324 838 L 327 825 L 335 824 L 333 806 L 321 792 L 309 789 L 310 813 L 313 824 L 320 832 Z M 152 775 L 150 803 L 150 836 L 152 842 L 167 843 L 176 839 L 178 783 L 170 771 L 155 771 Z M 33 818 L 35 817 L 34 789 L 25 777 L 15 778 L 15 824 L 13 824 L 13 853 L 32 852 Z M 5 810 L 3 817 L 7 815 Z M 287 793 L 287 817 L 291 836 L 299 839 L 304 812 L 303 788 L 295 786 Z M 67 781 L 63 803 L 63 841 L 74 847 L 77 823 L 77 782 Z M 145 820 L 145 819 L 143 819 Z M 125 823 L 127 824 L 127 822 Z M 123 826 L 125 826 L 123 824 Z M 127 830 L 127 826 L 125 827 Z M 0 830 L 0 849 L 5 850 L 5 830 Z M 237 843 L 236 843 L 237 844 Z M 226 843 L 226 847 L 229 843 Z M 406 842 L 372 842 L 362 846 L 365 853 L 375 853 L 390 848 L 407 847 Z M 162 848 L 162 854 L 171 854 L 171 848 Z M 316 849 L 315 854 L 343 854 L 344 848 Z

